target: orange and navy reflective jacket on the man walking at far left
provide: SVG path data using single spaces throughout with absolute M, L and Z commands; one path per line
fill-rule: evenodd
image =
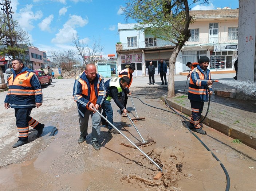
M 12 108 L 33 108 L 36 103 L 42 103 L 42 89 L 33 70 L 24 67 L 18 74 L 13 72 L 8 84 L 4 103 L 9 103 Z

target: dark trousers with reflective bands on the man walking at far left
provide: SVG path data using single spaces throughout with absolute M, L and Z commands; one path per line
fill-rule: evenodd
M 14 108 L 16 117 L 16 126 L 19 131 L 19 140 L 28 140 L 28 125 L 37 130 L 40 124 L 38 121 L 30 117 L 33 108 Z

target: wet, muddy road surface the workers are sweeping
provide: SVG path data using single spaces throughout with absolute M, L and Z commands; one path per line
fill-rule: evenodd
M 176 115 L 148 107 L 133 99 L 139 117 L 134 121 L 144 139 L 154 143 L 140 147 L 161 168 L 163 175 L 154 180 L 159 169 L 121 134 L 114 135 L 101 128 L 101 149 L 91 145 L 91 120 L 85 142 L 78 144 L 79 126 L 76 104 L 72 99 L 74 79 L 54 80 L 43 88 L 43 105 L 33 109 L 31 116 L 46 126 L 42 137 L 30 130 L 29 143 L 13 149 L 17 129 L 13 109 L 1 109 L 0 119 L 0 187 L 1 190 L 224 190 L 226 177 L 217 162 L 185 128 Z M 157 86 L 156 86 L 157 87 Z M 166 90 L 134 88 L 145 103 L 164 108 L 158 94 Z M 3 100 L 6 92 L 0 92 Z M 121 117 L 113 102 L 114 125 L 134 143 L 141 138 L 127 117 Z M 3 108 L 3 102 L 0 103 Z M 131 117 L 133 105 L 128 100 Z M 134 115 L 134 116 L 133 116 Z M 225 165 L 231 178 L 230 190 L 254 190 L 255 150 L 232 144 L 231 139 L 205 127 L 209 136 L 198 135 Z M 251 168 L 249 168 L 251 167 Z

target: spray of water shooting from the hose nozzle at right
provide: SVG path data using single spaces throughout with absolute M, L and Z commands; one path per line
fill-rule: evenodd
M 218 82 L 226 84 L 228 86 L 235 87 L 243 91 L 247 95 L 255 96 L 256 95 L 256 83 L 252 81 L 233 81 L 233 80 L 219 80 Z

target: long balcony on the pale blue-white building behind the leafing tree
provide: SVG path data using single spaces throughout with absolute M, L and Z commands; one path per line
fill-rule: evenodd
M 135 42 L 135 43 L 122 43 L 122 50 L 129 49 L 155 49 L 161 47 L 176 46 L 172 42 L 168 41 L 154 41 L 154 42 Z

